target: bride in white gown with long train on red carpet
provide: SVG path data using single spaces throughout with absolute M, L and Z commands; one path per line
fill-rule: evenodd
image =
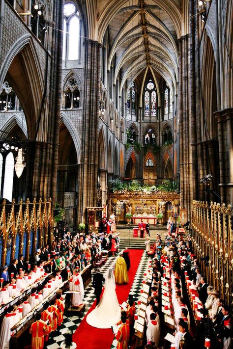
M 113 269 L 109 268 L 104 286 L 104 294 L 92 312 L 87 315 L 87 323 L 97 328 L 110 328 L 120 320 L 120 306 L 117 300 Z

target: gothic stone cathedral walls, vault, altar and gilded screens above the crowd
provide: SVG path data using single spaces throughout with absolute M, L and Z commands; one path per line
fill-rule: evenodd
M 231 304 L 232 0 L 2 0 L 0 200 L 1 267 L 60 209 L 71 232 L 173 215 Z

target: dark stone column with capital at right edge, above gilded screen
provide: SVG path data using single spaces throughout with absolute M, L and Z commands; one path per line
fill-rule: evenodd
M 233 205 L 233 108 L 214 113 L 218 124 L 221 203 Z

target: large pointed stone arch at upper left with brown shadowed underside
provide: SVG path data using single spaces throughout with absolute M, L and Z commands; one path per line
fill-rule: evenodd
M 42 64 L 44 63 L 39 60 L 31 37 L 25 34 L 8 51 L 0 72 L 0 83 L 2 85 L 3 80 L 7 79 L 19 98 L 25 113 L 29 139 L 46 141 L 48 104 L 45 100 L 41 112 L 45 88 Z M 39 126 L 36 126 L 37 123 Z

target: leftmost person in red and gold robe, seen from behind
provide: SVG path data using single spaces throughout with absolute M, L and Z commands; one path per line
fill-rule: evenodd
M 31 333 L 31 349 L 44 348 L 44 336 L 49 334 L 51 327 L 41 320 L 41 314 L 36 315 L 36 322 L 30 326 L 29 333 Z

